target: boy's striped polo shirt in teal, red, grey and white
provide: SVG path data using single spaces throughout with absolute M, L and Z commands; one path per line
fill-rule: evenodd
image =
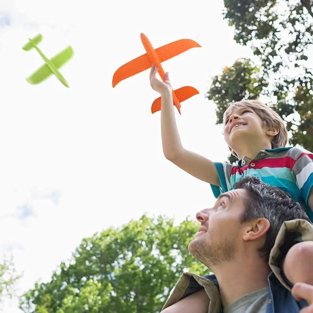
M 252 160 L 244 156 L 238 165 L 214 162 L 221 187 L 211 184 L 215 198 L 233 189 L 235 182 L 244 176 L 256 176 L 269 185 L 290 193 L 301 203 L 313 222 L 313 212 L 308 205 L 313 186 L 313 153 L 301 148 L 285 147 L 258 152 Z M 313 208 L 312 208 L 313 209 Z

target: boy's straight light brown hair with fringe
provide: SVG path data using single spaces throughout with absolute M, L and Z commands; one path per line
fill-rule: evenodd
M 285 147 L 288 142 L 288 133 L 283 119 L 278 113 L 272 110 L 269 106 L 265 105 L 258 100 L 241 100 L 229 105 L 223 115 L 223 122 L 225 124 L 226 119 L 229 117 L 234 108 L 243 106 L 249 107 L 255 111 L 257 115 L 262 119 L 263 126 L 269 126 L 278 128 L 278 134 L 272 140 L 272 149 Z M 229 148 L 230 149 L 230 148 Z M 232 149 L 230 149 L 232 150 Z

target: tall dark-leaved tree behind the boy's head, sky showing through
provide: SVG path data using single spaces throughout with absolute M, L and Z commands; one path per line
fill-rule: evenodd
M 242 77 L 237 73 L 239 64 L 233 65 L 236 79 L 228 81 L 225 87 L 241 92 L 232 91 L 230 96 L 234 98 L 229 100 L 235 100 L 235 96 L 245 99 L 268 96 L 269 105 L 287 123 L 290 143 L 313 151 L 313 136 L 307 136 L 313 134 L 313 70 L 306 62 L 313 44 L 312 0 L 224 0 L 224 5 L 224 18 L 234 29 L 234 40 L 242 45 L 251 44 L 260 63 L 258 69 L 249 59 L 237 61 L 248 64 Z M 245 74 L 252 69 L 260 74 L 257 80 L 261 90 L 246 83 Z M 218 113 L 222 113 L 224 103 L 219 100 L 216 83 L 214 80 L 207 96 L 217 104 Z

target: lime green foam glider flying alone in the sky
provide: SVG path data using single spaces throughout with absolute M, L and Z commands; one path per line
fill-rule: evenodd
M 33 74 L 31 74 L 26 80 L 29 84 L 36 85 L 41 83 L 43 80 L 47 79 L 50 75 L 54 74 L 57 79 L 66 87 L 69 88 L 68 82 L 58 71 L 69 59 L 74 55 L 74 50 L 71 46 L 68 46 L 59 54 L 55 55 L 51 60 L 49 60 L 42 51 L 38 48 L 37 44 L 42 41 L 42 35 L 38 34 L 33 39 L 28 38 L 29 42 L 25 44 L 22 49 L 29 51 L 31 49 L 36 49 L 40 56 L 44 59 L 45 64 L 37 69 Z

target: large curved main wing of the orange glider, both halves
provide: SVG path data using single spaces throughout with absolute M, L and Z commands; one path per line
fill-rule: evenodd
M 170 44 L 166 44 L 162 47 L 156 48 L 155 52 L 160 60 L 160 62 L 164 62 L 168 59 L 171 59 L 178 54 L 181 54 L 191 48 L 201 47 L 195 41 L 191 39 L 180 39 L 174 41 Z M 154 61 L 155 62 L 155 61 Z M 149 58 L 148 54 L 143 54 L 140 57 L 129 61 L 128 63 L 122 65 L 118 68 L 112 80 L 113 88 L 122 80 L 129 78 L 133 75 L 141 73 L 146 69 L 151 68 L 152 62 Z

